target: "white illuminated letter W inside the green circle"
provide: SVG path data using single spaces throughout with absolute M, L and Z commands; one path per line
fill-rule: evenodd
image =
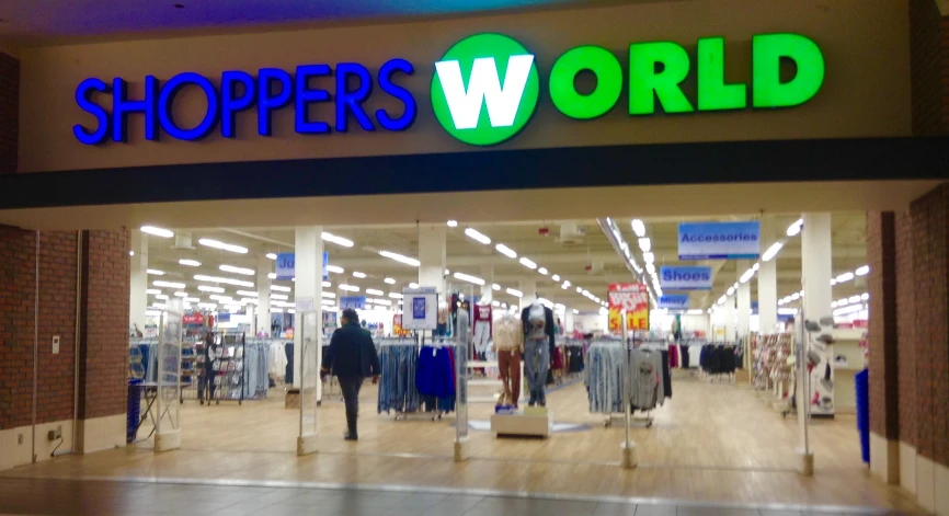
M 524 96 L 527 77 L 534 65 L 534 56 L 511 56 L 507 58 L 507 73 L 504 74 L 504 85 L 498 77 L 498 66 L 493 57 L 479 57 L 471 67 L 468 89 L 461 80 L 461 67 L 458 61 L 438 61 L 435 71 L 451 119 L 456 129 L 473 129 L 478 127 L 481 117 L 481 105 L 488 103 L 488 118 L 491 127 L 511 127 Z

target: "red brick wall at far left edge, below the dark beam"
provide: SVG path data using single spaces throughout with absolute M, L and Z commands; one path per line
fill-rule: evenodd
M 0 428 L 33 421 L 36 233 L 0 227 Z M 72 418 L 76 233 L 39 234 L 37 423 Z M 60 336 L 53 354 L 53 335 Z

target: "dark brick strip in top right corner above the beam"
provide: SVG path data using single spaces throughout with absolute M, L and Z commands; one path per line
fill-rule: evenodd
M 933 0 L 910 0 L 913 134 L 949 134 L 949 19 Z

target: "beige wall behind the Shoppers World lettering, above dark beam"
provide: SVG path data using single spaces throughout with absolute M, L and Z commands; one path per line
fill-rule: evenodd
M 736 15 L 741 13 L 741 15 Z M 835 0 L 826 5 L 797 0 L 689 0 L 554 10 L 416 23 L 192 36 L 174 39 L 117 41 L 25 48 L 20 53 L 20 170 L 22 172 L 107 169 L 150 164 L 313 159 L 329 157 L 419 154 L 471 150 L 451 138 L 432 113 L 430 83 L 434 62 L 457 41 L 480 32 L 499 32 L 536 54 L 541 101 L 524 131 L 502 148 L 550 148 L 687 141 L 908 136 L 910 71 L 906 2 Z M 776 111 L 738 111 L 631 118 L 627 88 L 606 116 L 571 121 L 549 102 L 546 79 L 553 60 L 584 44 L 599 45 L 627 60 L 633 42 L 671 41 L 695 53 L 699 37 L 725 38 L 727 80 L 751 80 L 751 37 L 793 32 L 816 42 L 824 53 L 826 79 L 804 105 Z M 361 62 L 376 72 L 391 58 L 412 62 L 415 73 L 398 82 L 419 105 L 414 125 L 403 133 L 358 128 L 348 134 L 302 136 L 294 133 L 291 106 L 274 113 L 274 135 L 256 134 L 253 112 L 238 115 L 236 139 L 213 131 L 201 142 L 163 137 L 144 139 L 140 115 L 129 118 L 128 144 L 92 147 L 72 135 L 75 124 L 92 117 L 76 104 L 76 87 L 90 77 L 105 82 L 122 77 L 130 99 L 142 96 L 142 81 L 165 81 L 194 71 L 219 80 L 225 70 L 255 74 L 265 67 L 293 72 L 305 64 Z M 693 59 L 695 57 L 693 56 Z M 625 65 L 624 65 L 625 66 Z M 332 85 L 329 87 L 332 89 Z M 683 85 L 695 89 L 694 74 Z M 192 127 L 204 114 L 204 96 L 193 88 L 174 102 L 175 121 Z M 100 102 L 111 104 L 107 95 Z M 387 95 L 373 95 L 367 111 L 400 110 Z M 311 110 L 330 119 L 332 104 Z

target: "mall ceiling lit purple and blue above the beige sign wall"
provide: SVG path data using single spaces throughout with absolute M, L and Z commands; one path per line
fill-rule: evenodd
M 43 44 L 276 24 L 340 24 L 634 0 L 23 0 L 0 3 L 0 38 Z M 640 2 L 643 0 L 639 0 Z M 651 0 L 659 1 L 659 0 Z M 662 0 L 668 1 L 668 0 Z

